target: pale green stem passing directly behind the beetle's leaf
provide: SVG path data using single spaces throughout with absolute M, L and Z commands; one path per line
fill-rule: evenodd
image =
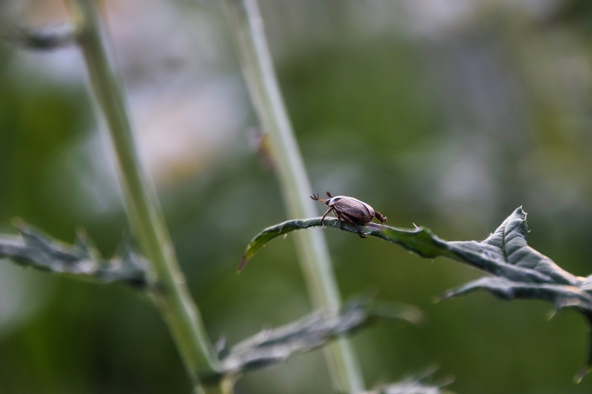
M 317 216 L 314 201 L 308 197 L 312 194 L 310 181 L 279 90 L 258 2 L 225 1 L 250 97 L 269 137 L 288 216 L 291 219 Z M 299 232 L 295 238 L 314 305 L 337 313 L 341 297 L 323 233 L 310 229 Z M 351 343 L 340 338 L 329 346 L 327 355 L 337 389 L 362 392 L 363 377 Z

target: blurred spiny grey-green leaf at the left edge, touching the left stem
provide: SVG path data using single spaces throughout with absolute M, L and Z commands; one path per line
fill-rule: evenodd
M 102 259 L 86 233 L 76 233 L 74 245 L 50 239 L 42 232 L 19 222 L 20 237 L 0 236 L 0 258 L 32 266 L 43 271 L 76 275 L 101 282 L 126 282 L 141 287 L 147 284 L 146 263 L 134 253 L 128 242 L 119 256 Z

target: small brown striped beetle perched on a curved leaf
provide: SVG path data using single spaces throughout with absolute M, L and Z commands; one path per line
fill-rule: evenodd
M 333 211 L 337 219 L 339 219 L 340 229 L 342 229 L 342 221 L 345 220 L 356 227 L 360 237 L 365 238 L 366 236 L 362 235 L 358 224 L 370 223 L 373 217 L 376 217 L 378 220 L 380 220 L 380 223 L 387 221 L 387 218 L 382 216 L 380 212 L 375 211 L 371 206 L 364 203 L 363 201 L 358 200 L 357 198 L 346 196 L 333 197 L 328 191 L 326 193 L 327 196 L 329 196 L 328 200 L 318 198 L 318 196 L 314 196 L 314 194 L 313 196 L 310 196 L 310 198 L 315 201 L 323 201 L 329 207 L 329 210 L 327 210 L 321 218 L 321 226 L 323 225 L 323 220 L 327 214 L 329 214 L 330 211 Z

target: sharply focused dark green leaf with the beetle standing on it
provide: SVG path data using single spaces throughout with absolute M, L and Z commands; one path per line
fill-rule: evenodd
M 263 230 L 247 246 L 240 268 L 270 240 L 294 230 L 320 226 L 320 218 L 290 220 Z M 339 228 L 339 220 L 325 219 L 324 227 Z M 592 276 L 575 276 L 564 271 L 551 259 L 527 245 L 526 213 L 516 209 L 498 229 L 481 242 L 446 242 L 430 232 L 397 229 L 382 224 L 359 226 L 362 234 L 397 243 L 425 258 L 438 256 L 466 263 L 493 276 L 477 279 L 446 292 L 439 299 L 485 290 L 503 299 L 542 299 L 556 308 L 575 308 L 592 321 Z M 354 226 L 343 223 L 343 230 L 356 233 Z M 591 341 L 592 343 L 592 341 Z M 588 360 L 590 360 L 589 351 Z M 578 382 L 592 370 L 592 365 L 581 370 Z

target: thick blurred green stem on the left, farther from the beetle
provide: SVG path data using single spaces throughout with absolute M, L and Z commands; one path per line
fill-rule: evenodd
M 141 168 L 123 90 L 107 57 L 95 5 L 91 0 L 72 2 L 79 45 L 107 123 L 130 226 L 154 276 L 151 298 L 168 324 L 196 392 L 229 393 L 231 388 L 202 388 L 198 381 L 217 369 L 218 360 L 179 268 L 153 185 Z

